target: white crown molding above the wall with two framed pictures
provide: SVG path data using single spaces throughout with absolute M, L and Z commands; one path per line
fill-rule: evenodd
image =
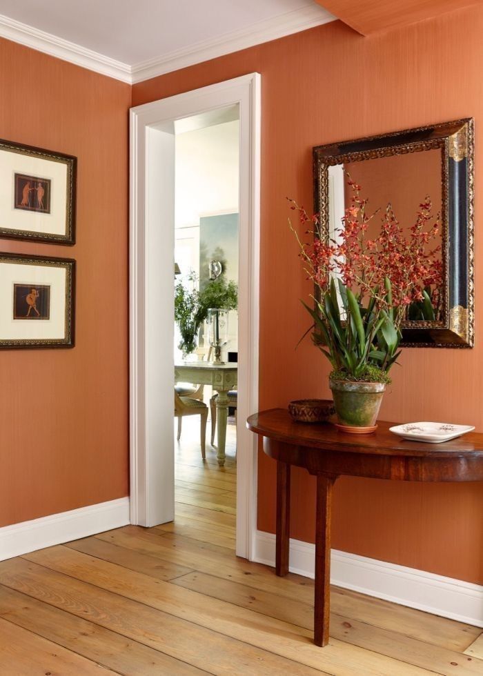
M 131 68 L 126 63 L 110 59 L 103 54 L 28 26 L 26 23 L 15 21 L 3 14 L 0 14 L 0 37 L 62 59 L 62 61 L 75 63 L 81 68 L 88 68 L 88 70 L 94 70 L 108 77 L 131 83 Z

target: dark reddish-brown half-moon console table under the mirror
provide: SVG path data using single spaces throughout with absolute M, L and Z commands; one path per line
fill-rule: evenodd
M 277 575 L 288 573 L 290 467 L 304 467 L 317 477 L 315 533 L 314 641 L 328 642 L 331 506 L 337 477 L 369 477 L 392 481 L 483 481 L 483 434 L 470 433 L 424 444 L 404 441 L 378 421 L 374 434 L 351 435 L 331 424 L 294 422 L 275 408 L 248 418 L 248 429 L 262 436 L 264 452 L 277 461 Z

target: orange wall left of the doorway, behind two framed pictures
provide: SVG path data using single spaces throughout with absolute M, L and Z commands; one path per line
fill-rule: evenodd
M 130 86 L 0 40 L 0 137 L 78 157 L 76 347 L 0 351 L 0 526 L 128 495 Z

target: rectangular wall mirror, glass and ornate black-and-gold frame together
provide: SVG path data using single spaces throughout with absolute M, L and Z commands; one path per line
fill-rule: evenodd
M 440 215 L 440 281 L 426 287 L 431 304 L 406 309 L 402 346 L 473 347 L 473 148 L 473 119 L 461 119 L 313 149 L 315 212 L 327 241 L 344 223 L 348 176 L 371 211 L 391 204 L 402 228 L 413 226 L 426 196 Z

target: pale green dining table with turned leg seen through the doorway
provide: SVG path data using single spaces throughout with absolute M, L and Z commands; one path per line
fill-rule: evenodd
M 210 361 L 181 361 L 175 364 L 175 383 L 210 385 L 218 392 L 217 406 L 217 461 L 225 464 L 226 424 L 228 421 L 228 392 L 237 386 L 238 364 L 213 364 Z

